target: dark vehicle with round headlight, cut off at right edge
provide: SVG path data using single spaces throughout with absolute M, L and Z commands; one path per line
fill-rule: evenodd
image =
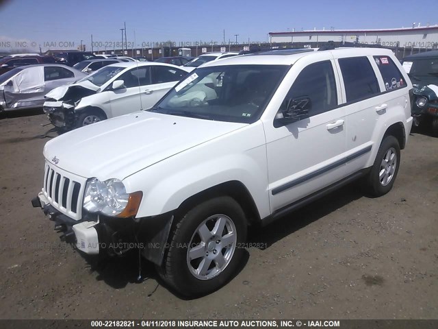
M 413 123 L 432 123 L 432 133 L 438 137 L 438 51 L 407 56 L 402 64 L 413 83 Z

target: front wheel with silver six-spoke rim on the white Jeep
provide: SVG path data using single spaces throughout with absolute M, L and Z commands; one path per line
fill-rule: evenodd
M 215 197 L 177 222 L 159 273 L 183 295 L 205 295 L 227 283 L 244 255 L 244 211 L 231 197 Z

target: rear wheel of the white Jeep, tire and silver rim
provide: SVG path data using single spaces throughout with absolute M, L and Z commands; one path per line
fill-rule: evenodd
M 386 167 L 387 171 L 385 171 L 385 169 L 382 169 L 384 164 L 383 160 L 388 158 L 388 155 L 391 156 L 391 154 L 395 154 L 397 157 L 394 159 L 395 168 L 391 166 L 391 161 L 389 161 L 389 163 L 387 163 L 387 166 L 389 167 Z M 376 160 L 374 160 L 370 173 L 365 177 L 365 191 L 372 197 L 380 197 L 391 191 L 399 167 L 400 145 L 398 140 L 394 136 L 386 136 L 383 139 L 381 146 L 378 148 Z M 387 177 L 387 180 L 383 179 L 382 182 L 382 177 L 385 178 L 385 176 Z

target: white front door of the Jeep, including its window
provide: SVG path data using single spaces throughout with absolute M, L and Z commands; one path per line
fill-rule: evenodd
M 309 117 L 266 126 L 271 212 L 344 177 L 346 127 L 333 60 L 305 66 L 283 101 L 309 98 Z

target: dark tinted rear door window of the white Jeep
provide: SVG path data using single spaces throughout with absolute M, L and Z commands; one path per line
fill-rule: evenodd
M 347 102 L 360 101 L 380 93 L 376 75 L 366 57 L 340 58 Z

